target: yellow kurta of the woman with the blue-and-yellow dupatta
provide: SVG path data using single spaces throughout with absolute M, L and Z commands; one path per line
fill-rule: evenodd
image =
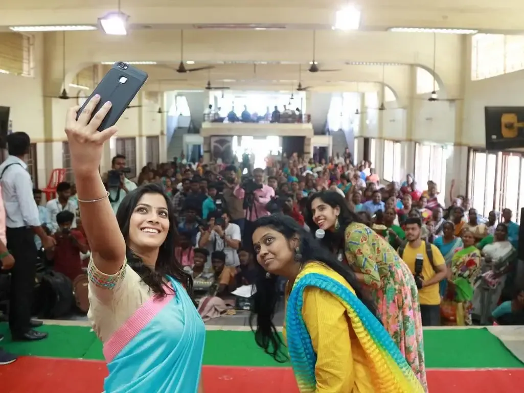
M 306 274 L 314 265 L 305 265 L 301 274 Z M 354 293 L 335 271 L 330 269 L 325 274 L 344 283 Z M 302 317 L 317 356 L 316 393 L 374 393 L 368 360 L 344 305 L 331 293 L 316 287 L 306 288 L 303 299 Z M 286 339 L 285 325 L 283 335 Z

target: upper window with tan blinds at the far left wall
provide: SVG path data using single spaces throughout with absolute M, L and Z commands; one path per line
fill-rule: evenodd
M 32 68 L 32 37 L 0 33 L 0 72 L 31 77 Z

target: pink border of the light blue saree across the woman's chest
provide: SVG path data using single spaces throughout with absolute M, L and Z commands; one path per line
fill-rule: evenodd
M 167 288 L 166 288 L 167 289 Z M 172 287 L 169 285 L 172 291 Z M 106 362 L 111 362 L 134 337 L 151 322 L 155 316 L 173 299 L 174 293 L 168 291 L 167 296 L 158 299 L 151 296 L 136 310 L 129 319 L 104 343 L 103 353 Z

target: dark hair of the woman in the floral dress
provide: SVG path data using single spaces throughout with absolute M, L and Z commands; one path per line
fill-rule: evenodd
M 315 192 L 309 195 L 308 202 L 305 206 L 305 223 L 309 226 L 311 233 L 315 233 L 318 230 L 319 226 L 315 224 L 313 220 L 313 212 L 311 209 L 311 204 L 317 198 L 320 198 L 322 202 L 330 205 L 332 208 L 340 209 L 339 214 L 339 228 L 336 231 L 326 231 L 324 238 L 322 239 L 322 244 L 328 249 L 339 249 L 344 243 L 344 231 L 346 227 L 354 222 L 362 222 L 360 217 L 352 212 L 347 205 L 346 200 L 342 195 L 336 191 L 320 191 Z

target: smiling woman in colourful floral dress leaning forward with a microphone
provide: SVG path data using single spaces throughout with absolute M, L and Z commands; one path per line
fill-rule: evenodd
M 323 244 L 353 267 L 375 301 L 378 318 L 427 392 L 418 290 L 407 265 L 384 238 L 359 222 L 336 192 L 310 195 L 306 216 L 311 232 L 323 230 Z

